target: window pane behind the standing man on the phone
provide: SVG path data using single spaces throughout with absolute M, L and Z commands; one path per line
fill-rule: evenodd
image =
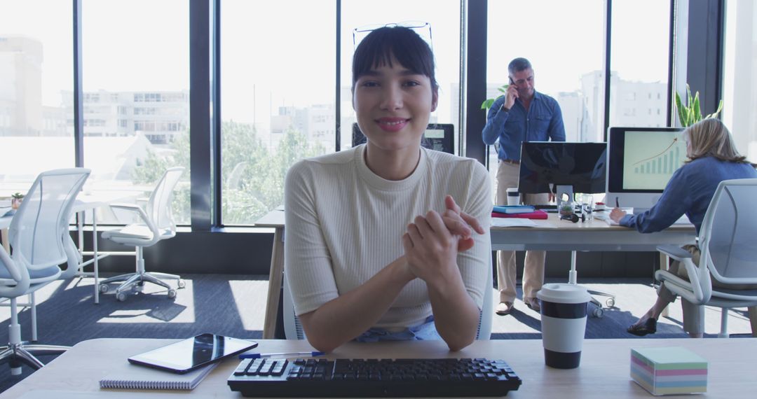
M 525 57 L 534 69 L 534 88 L 560 105 L 565 140 L 603 141 L 597 131 L 604 117 L 604 9 L 603 0 L 489 2 L 487 97 L 497 97 L 497 88 L 509 82 L 509 62 Z M 488 157 L 496 184 L 494 146 Z

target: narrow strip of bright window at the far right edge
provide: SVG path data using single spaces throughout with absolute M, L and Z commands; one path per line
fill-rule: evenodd
M 757 5 L 725 3 L 723 122 L 740 153 L 757 160 Z

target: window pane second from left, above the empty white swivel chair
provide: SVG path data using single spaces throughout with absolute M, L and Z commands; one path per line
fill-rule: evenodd
M 139 197 L 167 168 L 184 166 L 173 202 L 179 224 L 189 223 L 188 15 L 183 0 L 82 2 L 87 184 Z

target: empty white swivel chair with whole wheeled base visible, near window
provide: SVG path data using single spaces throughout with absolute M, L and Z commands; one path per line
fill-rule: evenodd
M 111 205 L 111 208 L 133 212 L 142 219 L 142 223 L 129 224 L 119 230 L 108 230 L 102 234 L 102 237 L 107 240 L 135 247 L 136 273 L 121 274 L 102 280 L 100 292 L 107 292 L 108 283 L 123 281 L 116 289 L 116 298 L 119 301 L 126 301 L 127 292 L 139 291 L 144 283 L 148 282 L 163 286 L 168 289 L 168 297 L 175 298 L 176 289 L 171 288 L 160 279 L 178 280 L 179 288 L 185 286 L 184 280 L 181 280 L 181 277 L 176 274 L 148 273 L 145 271 L 145 258 L 142 255 L 142 249 L 145 246 L 152 246 L 160 240 L 176 236 L 176 223 L 174 223 L 171 215 L 171 199 L 173 199 L 173 188 L 176 187 L 176 183 L 179 182 L 183 172 L 184 168 L 176 167 L 170 168 L 164 173 L 151 193 L 150 199 L 148 199 L 146 212 L 136 204 Z

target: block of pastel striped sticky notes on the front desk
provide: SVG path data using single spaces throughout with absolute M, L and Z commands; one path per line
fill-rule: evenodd
M 707 391 L 707 360 L 686 348 L 631 349 L 631 378 L 654 395 Z

